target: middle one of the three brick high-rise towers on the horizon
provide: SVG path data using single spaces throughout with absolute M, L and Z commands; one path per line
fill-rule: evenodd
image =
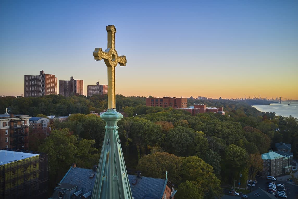
M 74 79 L 73 76 L 70 80 L 59 80 L 59 95 L 69 97 L 75 93 L 83 95 L 83 80 Z

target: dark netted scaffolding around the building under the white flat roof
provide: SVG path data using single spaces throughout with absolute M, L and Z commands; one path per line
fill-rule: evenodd
M 46 198 L 47 168 L 48 158 L 44 153 L 0 165 L 0 199 Z

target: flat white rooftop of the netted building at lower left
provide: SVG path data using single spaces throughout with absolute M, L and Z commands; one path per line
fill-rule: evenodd
M 38 156 L 39 154 L 24 153 L 20 151 L 0 150 L 0 165 L 12 163 L 28 157 Z

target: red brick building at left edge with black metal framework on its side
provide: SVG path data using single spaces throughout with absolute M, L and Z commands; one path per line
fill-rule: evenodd
M 0 149 L 28 149 L 29 115 L 0 114 Z

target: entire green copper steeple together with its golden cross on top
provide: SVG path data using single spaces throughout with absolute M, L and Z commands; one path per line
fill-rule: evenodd
M 106 30 L 108 48 L 104 52 L 95 48 L 93 52 L 94 59 L 104 59 L 108 67 L 108 111 L 100 115 L 105 120 L 106 130 L 92 199 L 133 199 L 117 130 L 123 115 L 115 109 L 115 67 L 118 63 L 125 66 L 126 58 L 118 56 L 115 50 L 115 26 L 109 25 Z

